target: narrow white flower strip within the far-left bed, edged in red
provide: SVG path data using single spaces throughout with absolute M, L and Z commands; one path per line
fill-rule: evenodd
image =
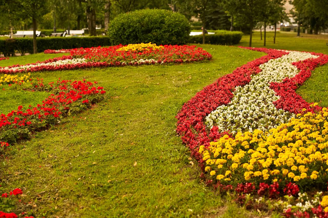
M 16 66 L 16 67 L 3 67 L 0 68 L 1 71 L 18 71 L 18 70 L 27 70 L 30 68 L 38 67 L 38 66 L 59 66 L 59 65 L 64 65 L 64 64 L 82 64 L 87 62 L 87 59 L 85 58 L 74 58 L 74 59 L 65 59 L 65 60 L 59 60 L 59 61 L 54 61 L 54 62 L 49 62 L 49 63 L 37 63 L 37 64 L 26 64 L 22 66 Z

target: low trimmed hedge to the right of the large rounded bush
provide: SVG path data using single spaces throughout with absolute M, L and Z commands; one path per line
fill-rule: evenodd
M 215 34 L 205 34 L 205 43 L 213 45 L 235 45 L 238 44 L 243 35 L 240 31 L 208 30 Z M 188 43 L 203 43 L 203 35 L 190 36 Z

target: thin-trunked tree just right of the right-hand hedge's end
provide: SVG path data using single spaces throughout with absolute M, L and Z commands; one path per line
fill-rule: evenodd
M 236 17 L 236 22 L 239 21 L 249 25 L 250 47 L 252 47 L 253 27 L 258 21 L 258 12 L 263 8 L 264 4 L 265 1 L 262 0 L 223 0 L 224 8 Z

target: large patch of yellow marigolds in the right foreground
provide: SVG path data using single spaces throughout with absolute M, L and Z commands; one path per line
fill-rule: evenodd
M 200 146 L 199 153 L 205 171 L 221 183 L 327 181 L 328 109 L 297 114 L 269 132 L 239 132 L 235 139 L 225 135 L 208 148 Z

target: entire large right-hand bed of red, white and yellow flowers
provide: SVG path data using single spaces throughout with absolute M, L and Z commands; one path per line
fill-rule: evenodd
M 253 204 L 254 194 L 276 198 L 313 187 L 326 191 L 328 112 L 295 90 L 328 56 L 249 49 L 268 55 L 206 86 L 176 116 L 177 132 L 199 161 L 201 177 L 221 191 L 234 189 L 242 204 Z M 293 199 L 287 205 L 301 202 Z M 305 210 L 284 203 L 281 211 L 316 214 L 328 206 L 317 203 Z

